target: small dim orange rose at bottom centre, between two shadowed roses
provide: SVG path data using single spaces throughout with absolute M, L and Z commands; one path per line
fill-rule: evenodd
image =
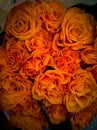
M 47 113 L 49 116 L 50 121 L 53 124 L 60 124 L 64 121 L 66 121 L 67 118 L 67 110 L 64 105 L 51 105 L 47 108 Z

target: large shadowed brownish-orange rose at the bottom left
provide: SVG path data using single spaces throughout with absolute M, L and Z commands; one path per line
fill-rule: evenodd
M 27 99 L 9 112 L 11 123 L 22 130 L 43 130 L 48 127 L 38 102 Z

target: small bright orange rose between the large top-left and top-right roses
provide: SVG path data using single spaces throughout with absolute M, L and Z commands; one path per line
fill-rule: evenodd
M 25 41 L 25 46 L 29 52 L 36 49 L 40 50 L 50 50 L 51 45 L 51 35 L 46 30 L 41 30 L 36 33 L 33 37 Z

